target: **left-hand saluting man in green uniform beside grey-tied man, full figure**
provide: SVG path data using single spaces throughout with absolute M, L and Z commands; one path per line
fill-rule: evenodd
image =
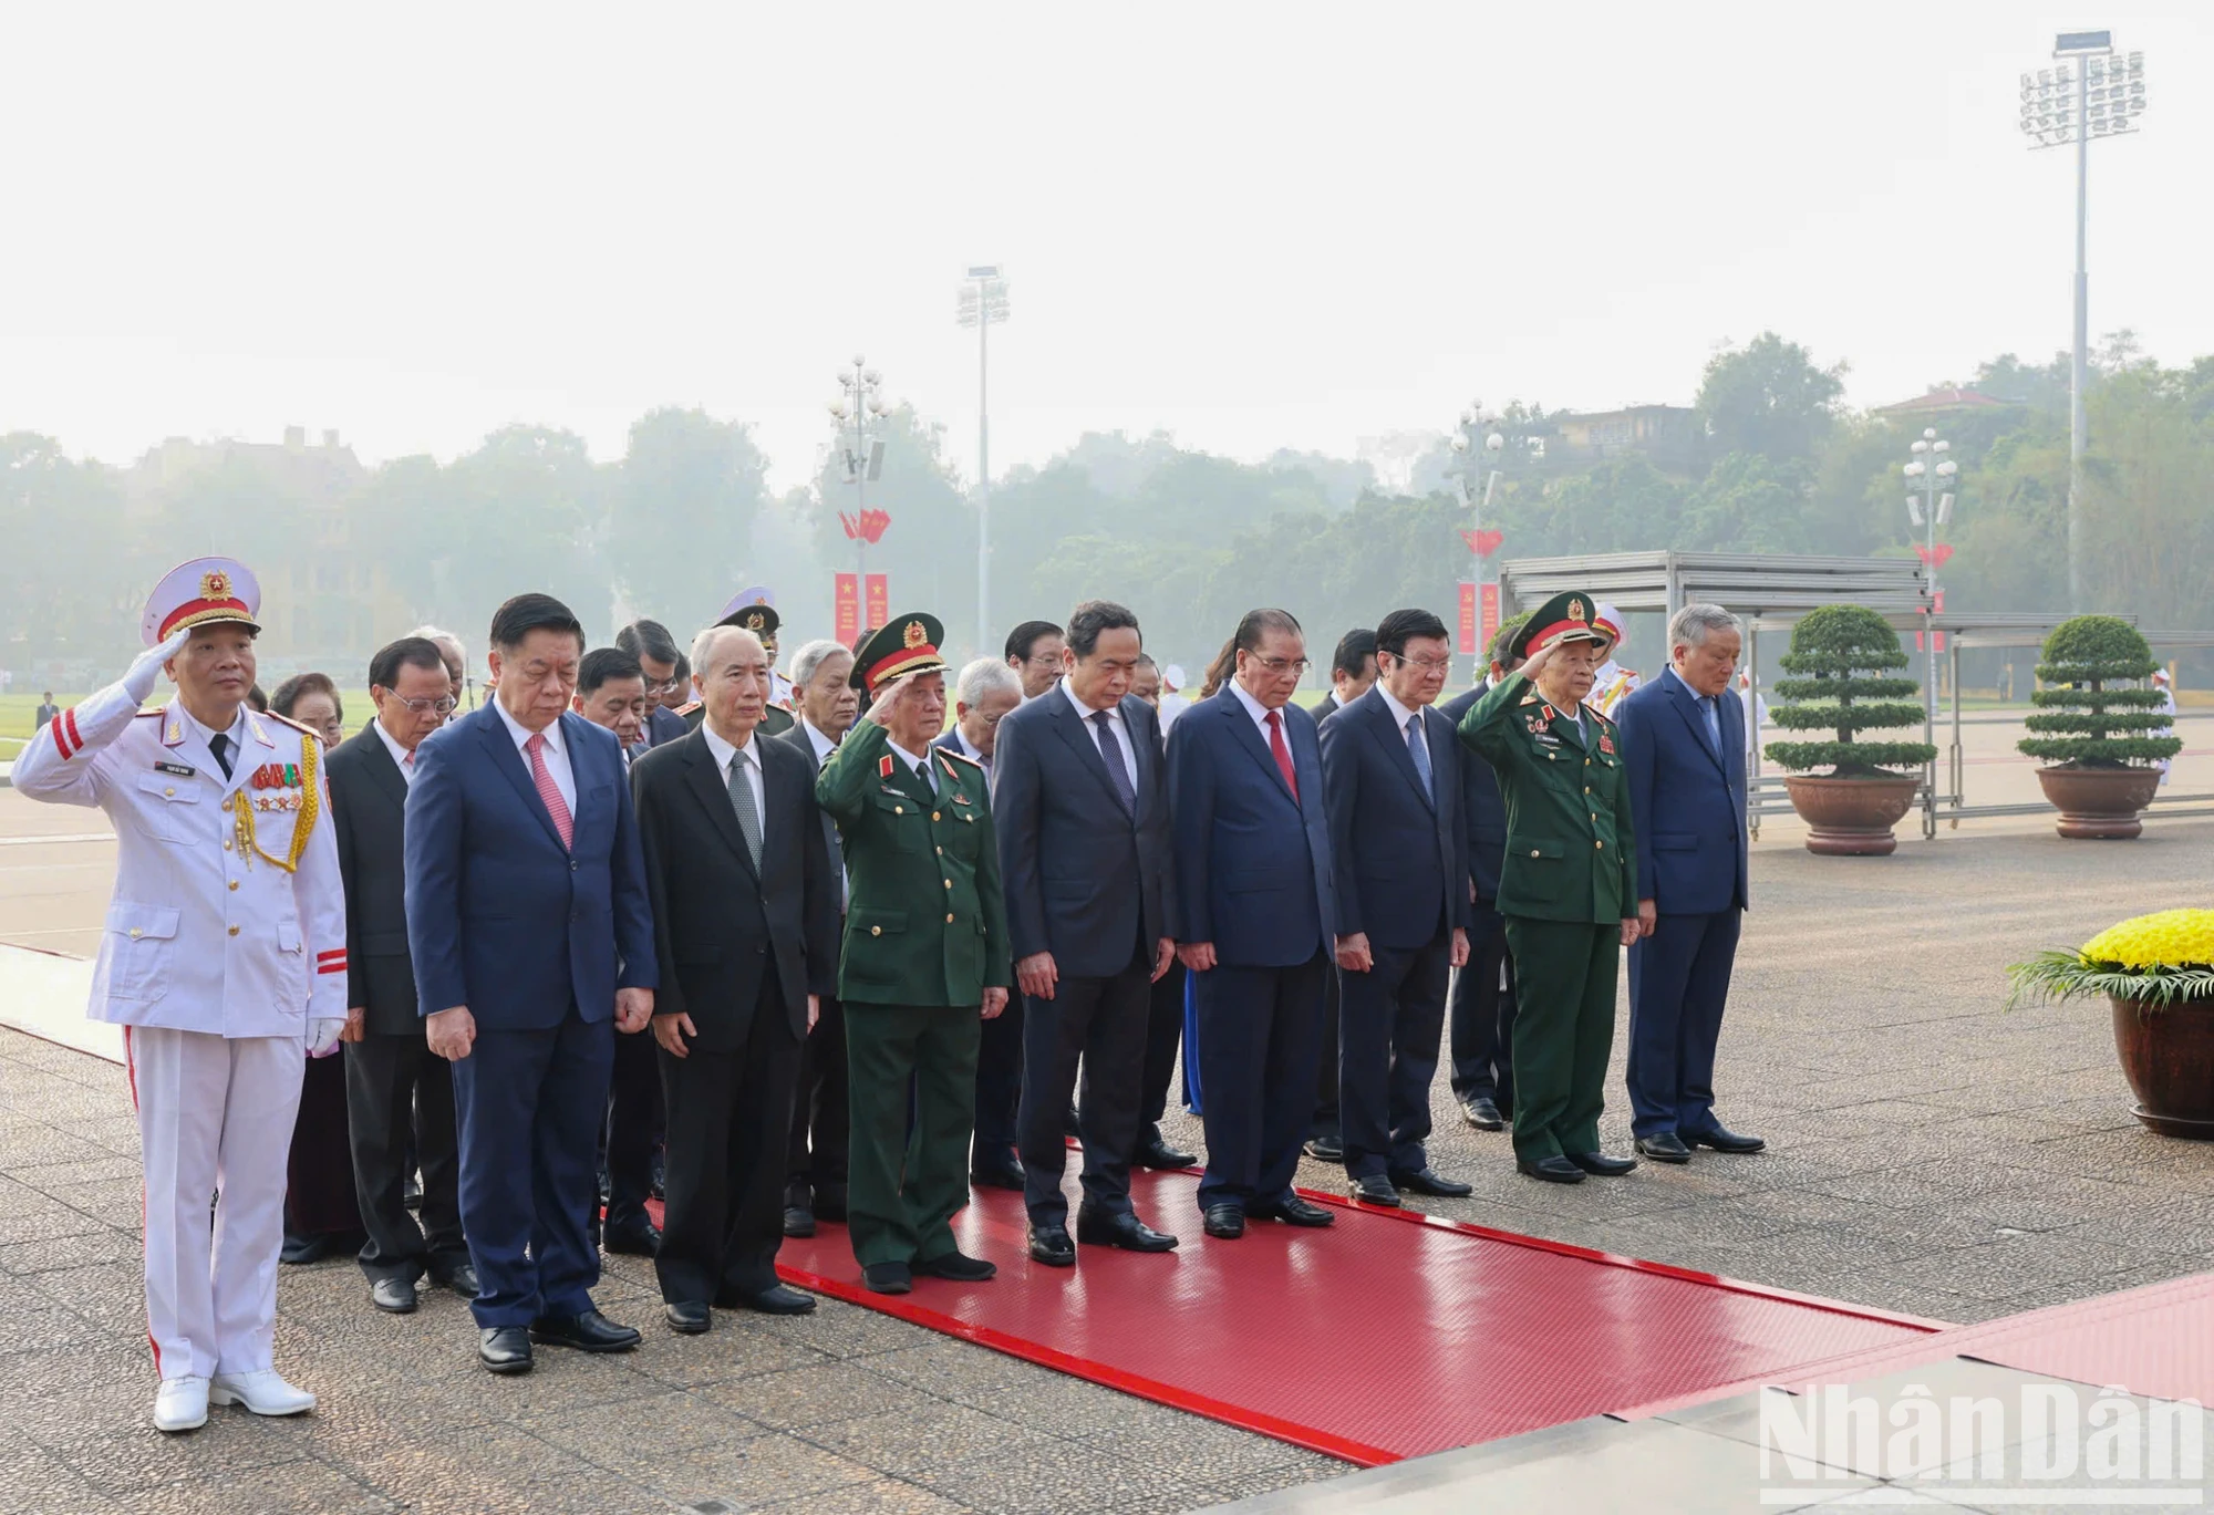
M 945 729 L 941 638 L 932 616 L 892 616 L 861 645 L 852 682 L 868 713 L 815 780 L 848 882 L 846 1225 L 877 1294 L 908 1294 L 914 1274 L 981 1282 L 996 1271 L 963 1256 L 950 1223 L 968 1203 L 981 1021 L 1007 1008 L 1014 975 L 983 769 L 930 744 Z

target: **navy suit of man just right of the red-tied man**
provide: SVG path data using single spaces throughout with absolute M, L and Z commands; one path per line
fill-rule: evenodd
M 1373 959 L 1366 972 L 1337 970 L 1337 1107 L 1348 1178 L 1430 1165 L 1421 1143 L 1430 1136 L 1452 932 L 1468 926 L 1459 742 L 1437 711 L 1417 715 L 1428 782 L 1382 687 L 1322 724 L 1335 930 L 1366 935 Z

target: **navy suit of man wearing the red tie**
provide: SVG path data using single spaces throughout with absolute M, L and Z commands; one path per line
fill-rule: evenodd
M 1282 709 L 1300 793 L 1227 684 L 1169 729 L 1178 944 L 1211 941 L 1215 968 L 1191 975 L 1207 1176 L 1200 1209 L 1291 1198 L 1315 1114 L 1322 986 L 1337 921 L 1331 826 L 1315 718 Z

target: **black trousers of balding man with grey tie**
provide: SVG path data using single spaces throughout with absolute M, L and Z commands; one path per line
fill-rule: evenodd
M 722 1300 L 777 1285 L 784 1152 L 790 1143 L 799 1037 L 775 992 L 762 994 L 744 1045 L 684 1057 L 655 1048 L 669 1110 L 662 1247 L 664 1300 Z

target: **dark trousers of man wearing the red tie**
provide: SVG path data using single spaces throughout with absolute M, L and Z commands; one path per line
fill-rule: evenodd
M 1315 1114 L 1326 977 L 1322 952 L 1295 968 L 1224 966 L 1191 975 L 1207 1090 L 1200 1209 L 1291 1198 L 1300 1143 Z

